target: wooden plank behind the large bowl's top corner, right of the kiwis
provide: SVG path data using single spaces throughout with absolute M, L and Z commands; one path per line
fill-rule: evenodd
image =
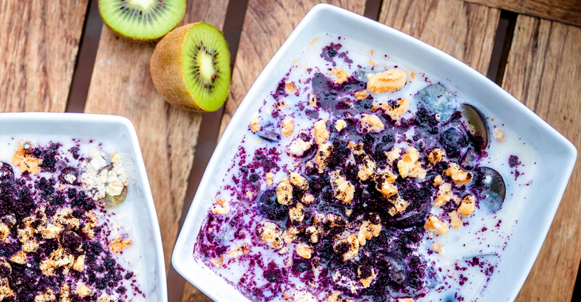
M 220 137 L 244 95 L 284 40 L 317 3 L 331 3 L 363 14 L 365 0 L 250 0 L 232 73 Z

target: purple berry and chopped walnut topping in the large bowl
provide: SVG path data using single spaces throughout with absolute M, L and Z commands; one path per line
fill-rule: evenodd
M 467 266 L 489 278 L 494 256 L 455 277 L 433 260 L 503 206 L 487 118 L 426 75 L 318 47 L 251 117 L 194 256 L 250 301 L 409 302 L 468 286 Z

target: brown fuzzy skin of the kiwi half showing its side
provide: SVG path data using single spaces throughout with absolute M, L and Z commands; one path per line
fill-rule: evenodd
M 208 112 L 196 104 L 183 75 L 182 47 L 187 31 L 196 24 L 186 24 L 166 34 L 153 51 L 149 69 L 155 88 L 170 104 L 188 111 Z

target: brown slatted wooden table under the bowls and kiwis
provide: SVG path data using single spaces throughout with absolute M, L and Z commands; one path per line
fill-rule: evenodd
M 158 210 L 170 302 L 210 301 L 171 268 L 184 209 L 216 139 L 255 78 L 321 1 L 187 0 L 181 23 L 205 21 L 223 29 L 236 58 L 226 105 L 205 115 L 174 108 L 157 93 L 149 75 L 155 43 L 131 43 L 106 27 L 95 34 L 95 26 L 102 26 L 95 1 L 0 0 L 0 112 L 80 111 L 131 119 Z M 581 0 L 323 2 L 365 14 L 466 62 L 581 149 Z M 516 301 L 581 301 L 581 281 L 573 292 L 581 279 L 580 196 L 577 164 Z

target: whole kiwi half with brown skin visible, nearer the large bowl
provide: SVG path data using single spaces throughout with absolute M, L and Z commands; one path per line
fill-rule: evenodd
M 216 111 L 230 89 L 230 53 L 224 35 L 208 23 L 178 27 L 151 56 L 155 88 L 174 106 Z

